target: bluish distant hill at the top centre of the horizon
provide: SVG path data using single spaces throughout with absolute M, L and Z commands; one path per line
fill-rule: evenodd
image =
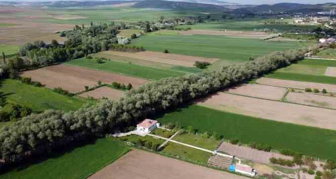
M 133 7 L 134 8 L 172 9 L 172 10 L 200 10 L 204 12 L 228 11 L 229 10 L 223 6 L 218 6 L 218 5 L 174 2 L 174 1 L 161 1 L 161 0 L 140 1 Z

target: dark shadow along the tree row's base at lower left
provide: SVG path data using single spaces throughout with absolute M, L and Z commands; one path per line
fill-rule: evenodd
M 92 138 L 85 142 L 77 142 L 71 146 L 66 145 L 61 148 L 58 147 L 57 149 L 54 149 L 54 151 L 52 152 L 45 152 L 43 155 L 29 156 L 29 158 L 24 159 L 22 162 L 10 164 L 9 166 L 6 166 L 4 169 L 0 170 L 0 176 L 1 174 L 7 173 L 10 171 L 19 172 L 19 171 L 25 170 L 32 165 L 43 163 L 49 159 L 57 159 L 59 157 L 64 156 L 65 154 L 69 154 L 76 148 L 82 148 L 82 147 L 86 147 L 89 145 L 95 145 L 96 143 L 97 143 L 97 138 Z

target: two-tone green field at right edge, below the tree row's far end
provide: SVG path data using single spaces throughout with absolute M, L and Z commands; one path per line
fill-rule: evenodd
M 305 59 L 297 64 L 278 69 L 265 77 L 336 84 L 336 77 L 324 76 L 327 67 L 335 67 L 336 61 Z

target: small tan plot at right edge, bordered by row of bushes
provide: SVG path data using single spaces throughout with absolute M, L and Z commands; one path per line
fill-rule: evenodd
M 288 93 L 286 101 L 310 106 L 336 109 L 336 98 L 310 93 Z

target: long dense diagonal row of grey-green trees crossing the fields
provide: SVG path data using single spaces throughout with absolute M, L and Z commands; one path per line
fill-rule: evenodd
M 77 111 L 49 110 L 33 114 L 0 129 L 0 153 L 5 159 L 16 160 L 26 151 L 34 154 L 65 145 L 70 137 L 83 140 L 103 132 L 119 130 L 134 125 L 150 114 L 175 108 L 229 85 L 302 60 L 312 49 L 275 52 L 220 70 L 161 79 L 131 90 L 118 101 L 105 100 Z

